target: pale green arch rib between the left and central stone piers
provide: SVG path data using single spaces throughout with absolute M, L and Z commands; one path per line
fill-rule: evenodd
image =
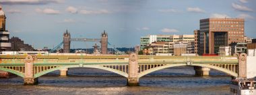
M 77 65 L 71 65 L 71 66 L 60 66 L 60 67 L 57 67 L 57 68 L 52 68 L 52 69 L 49 69 L 49 70 L 45 70 L 45 71 L 42 71 L 42 72 L 39 72 L 38 74 L 34 74 L 34 78 L 38 78 L 40 76 L 43 76 L 44 74 L 48 74 L 49 72 L 53 72 L 55 70 L 62 70 L 62 69 L 65 69 L 65 68 L 96 68 L 96 69 L 100 69 L 100 70 L 106 70 L 106 71 L 109 71 L 109 72 L 113 72 L 115 74 L 119 74 L 121 76 L 124 76 L 125 78 L 128 78 L 128 74 L 125 73 L 125 72 L 121 72 L 119 70 L 114 70 L 112 68 L 106 68 L 106 67 L 103 67 L 103 66 L 77 66 Z

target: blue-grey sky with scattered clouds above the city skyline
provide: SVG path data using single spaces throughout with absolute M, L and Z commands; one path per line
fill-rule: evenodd
M 139 45 L 149 34 L 193 34 L 199 19 L 245 18 L 245 35 L 256 38 L 255 0 L 1 0 L 7 30 L 35 48 L 53 48 L 71 37 L 100 38 L 106 30 L 116 47 Z M 93 42 L 71 42 L 92 48 Z M 99 44 L 99 43 L 98 43 Z

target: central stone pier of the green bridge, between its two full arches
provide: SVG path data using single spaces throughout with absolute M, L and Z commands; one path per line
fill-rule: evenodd
M 130 54 L 129 56 L 129 66 L 128 66 L 128 86 L 139 86 L 139 65 L 138 58 L 136 54 Z

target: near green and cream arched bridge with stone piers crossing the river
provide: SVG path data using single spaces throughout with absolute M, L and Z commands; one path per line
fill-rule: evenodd
M 247 55 L 236 54 L 233 57 L 170 57 L 143 58 L 130 54 L 123 58 L 50 60 L 40 56 L 26 56 L 25 59 L 2 60 L 0 70 L 11 72 L 24 78 L 24 84 L 33 85 L 38 78 L 53 72 L 61 71 L 61 76 L 67 76 L 69 68 L 97 68 L 119 74 L 127 78 L 129 86 L 137 86 L 139 78 L 164 68 L 177 66 L 193 66 L 197 76 L 209 75 L 211 69 L 224 72 L 234 78 L 247 78 Z M 109 57 L 109 56 L 107 56 Z

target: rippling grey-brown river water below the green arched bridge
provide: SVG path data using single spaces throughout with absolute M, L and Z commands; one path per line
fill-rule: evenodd
M 230 94 L 231 77 L 211 70 L 207 77 L 194 76 L 193 67 L 167 68 L 127 86 L 127 78 L 92 68 L 70 68 L 69 76 L 59 71 L 38 78 L 38 85 L 23 86 L 23 78 L 1 78 L 0 94 Z

